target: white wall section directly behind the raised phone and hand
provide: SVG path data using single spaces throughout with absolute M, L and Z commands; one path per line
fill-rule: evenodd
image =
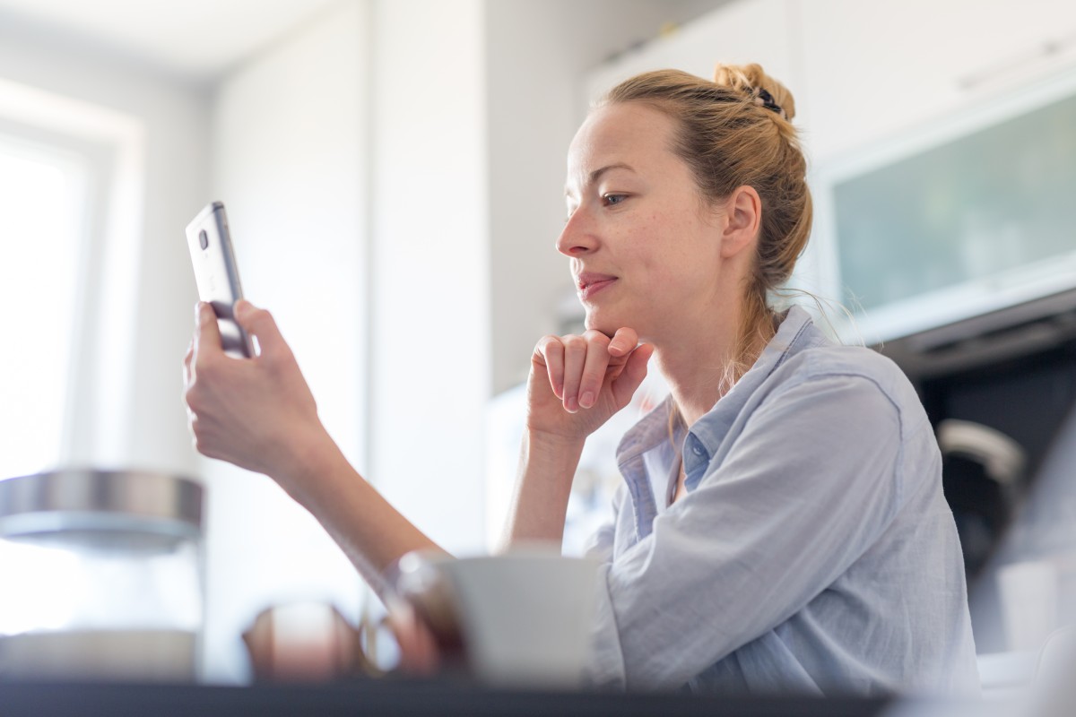
M 212 195 L 228 210 L 243 290 L 269 309 L 329 433 L 356 465 L 366 405 L 366 6 L 336 3 L 220 83 Z M 184 270 L 186 267 L 184 266 Z M 269 478 L 203 461 L 210 485 L 207 677 L 247 677 L 239 633 L 270 604 L 354 618 L 362 583 Z

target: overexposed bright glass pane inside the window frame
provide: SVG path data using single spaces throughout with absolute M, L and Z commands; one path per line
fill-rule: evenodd
M 0 135 L 0 478 L 60 460 L 86 176 L 77 156 Z

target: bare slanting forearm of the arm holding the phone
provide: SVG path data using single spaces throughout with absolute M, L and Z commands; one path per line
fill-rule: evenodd
M 300 465 L 273 476 L 310 511 L 382 598 L 386 571 L 405 554 L 441 548 L 405 518 L 325 435 L 311 441 Z

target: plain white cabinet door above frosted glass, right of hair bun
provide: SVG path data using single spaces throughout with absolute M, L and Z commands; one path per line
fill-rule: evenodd
M 816 163 L 1076 63 L 1072 0 L 799 0 Z

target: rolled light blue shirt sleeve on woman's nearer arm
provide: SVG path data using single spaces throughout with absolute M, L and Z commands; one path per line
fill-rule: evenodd
M 901 432 L 864 376 L 773 391 L 698 486 L 601 568 L 592 682 L 679 687 L 802 610 L 892 520 Z

